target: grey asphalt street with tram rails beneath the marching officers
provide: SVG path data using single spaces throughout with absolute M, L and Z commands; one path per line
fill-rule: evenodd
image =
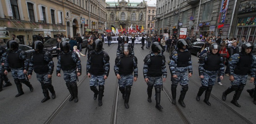
M 171 81 L 170 71 L 167 65 L 167 81 L 164 82 L 164 91 L 161 92 L 161 105 L 163 110 L 155 108 L 154 89 L 152 103 L 147 102 L 147 84 L 143 78 L 143 59 L 149 54 L 150 49 L 142 50 L 141 44 L 134 48 L 135 56 L 138 59 L 139 77 L 133 83 L 129 100 L 129 109 L 125 109 L 124 100 L 117 89 L 117 78 L 114 75 L 114 59 L 116 57 L 117 44 L 110 47 L 104 44 L 104 51 L 110 57 L 110 72 L 105 81 L 103 105 L 98 106 L 98 100 L 93 99 L 93 92 L 89 88 L 89 78 L 86 76 L 87 57 L 81 57 L 82 75 L 77 82 L 79 102 L 68 101 L 70 94 L 62 77 L 56 76 L 57 57 L 54 57 L 55 71 L 53 72 L 52 85 L 56 91 L 56 98 L 41 103 L 44 98 L 40 83 L 35 73 L 30 82 L 34 91 L 23 85 L 24 95 L 15 98 L 17 88 L 9 72 L 7 75 L 12 86 L 3 88 L 0 92 L 0 123 L 1 124 L 254 124 L 256 123 L 255 105 L 246 89 L 252 88 L 253 83 L 247 81 L 247 85 L 241 94 L 236 107 L 230 103 L 234 92 L 227 96 L 227 100 L 221 100 L 222 92 L 230 86 L 229 77 L 224 76 L 221 81 L 223 86 L 216 83 L 211 92 L 209 102 L 206 105 L 204 94 L 199 102 L 196 101 L 196 94 L 201 86 L 198 74 L 198 58 L 192 55 L 193 75 L 189 78 L 189 91 L 186 93 L 184 103 L 186 108 L 179 104 L 173 105 L 170 101 Z M 84 53 L 83 49 L 82 53 Z M 169 53 L 164 52 L 166 60 L 169 60 Z M 63 75 L 63 73 L 61 72 Z M 177 100 L 181 86 L 177 87 Z

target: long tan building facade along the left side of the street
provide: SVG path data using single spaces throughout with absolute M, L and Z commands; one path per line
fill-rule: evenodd
M 105 0 L 1 0 L 0 38 L 6 42 L 15 34 L 29 45 L 39 33 L 53 38 L 103 31 L 105 5 Z

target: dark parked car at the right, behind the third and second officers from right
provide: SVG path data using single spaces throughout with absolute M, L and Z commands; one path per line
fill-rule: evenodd
M 191 52 L 191 54 L 199 57 L 199 54 L 201 53 L 201 49 L 203 48 L 204 44 L 204 42 L 196 41 L 192 43 L 191 46 L 189 46 L 188 50 Z

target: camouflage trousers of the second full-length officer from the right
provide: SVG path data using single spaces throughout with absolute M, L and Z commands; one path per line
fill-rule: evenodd
M 203 73 L 204 78 L 201 79 L 202 86 L 207 86 L 207 87 L 208 85 L 214 86 L 218 72 L 219 71 L 208 71 L 204 69 L 204 73 Z

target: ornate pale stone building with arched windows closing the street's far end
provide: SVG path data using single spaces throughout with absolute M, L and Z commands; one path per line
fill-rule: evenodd
M 143 2 L 126 2 L 125 0 L 117 2 L 107 2 L 106 13 L 107 13 L 107 24 L 106 29 L 111 29 L 111 25 L 115 28 L 120 29 L 120 25 L 124 29 L 132 24 L 132 29 L 136 30 L 136 25 L 146 27 L 146 11 L 147 3 Z

